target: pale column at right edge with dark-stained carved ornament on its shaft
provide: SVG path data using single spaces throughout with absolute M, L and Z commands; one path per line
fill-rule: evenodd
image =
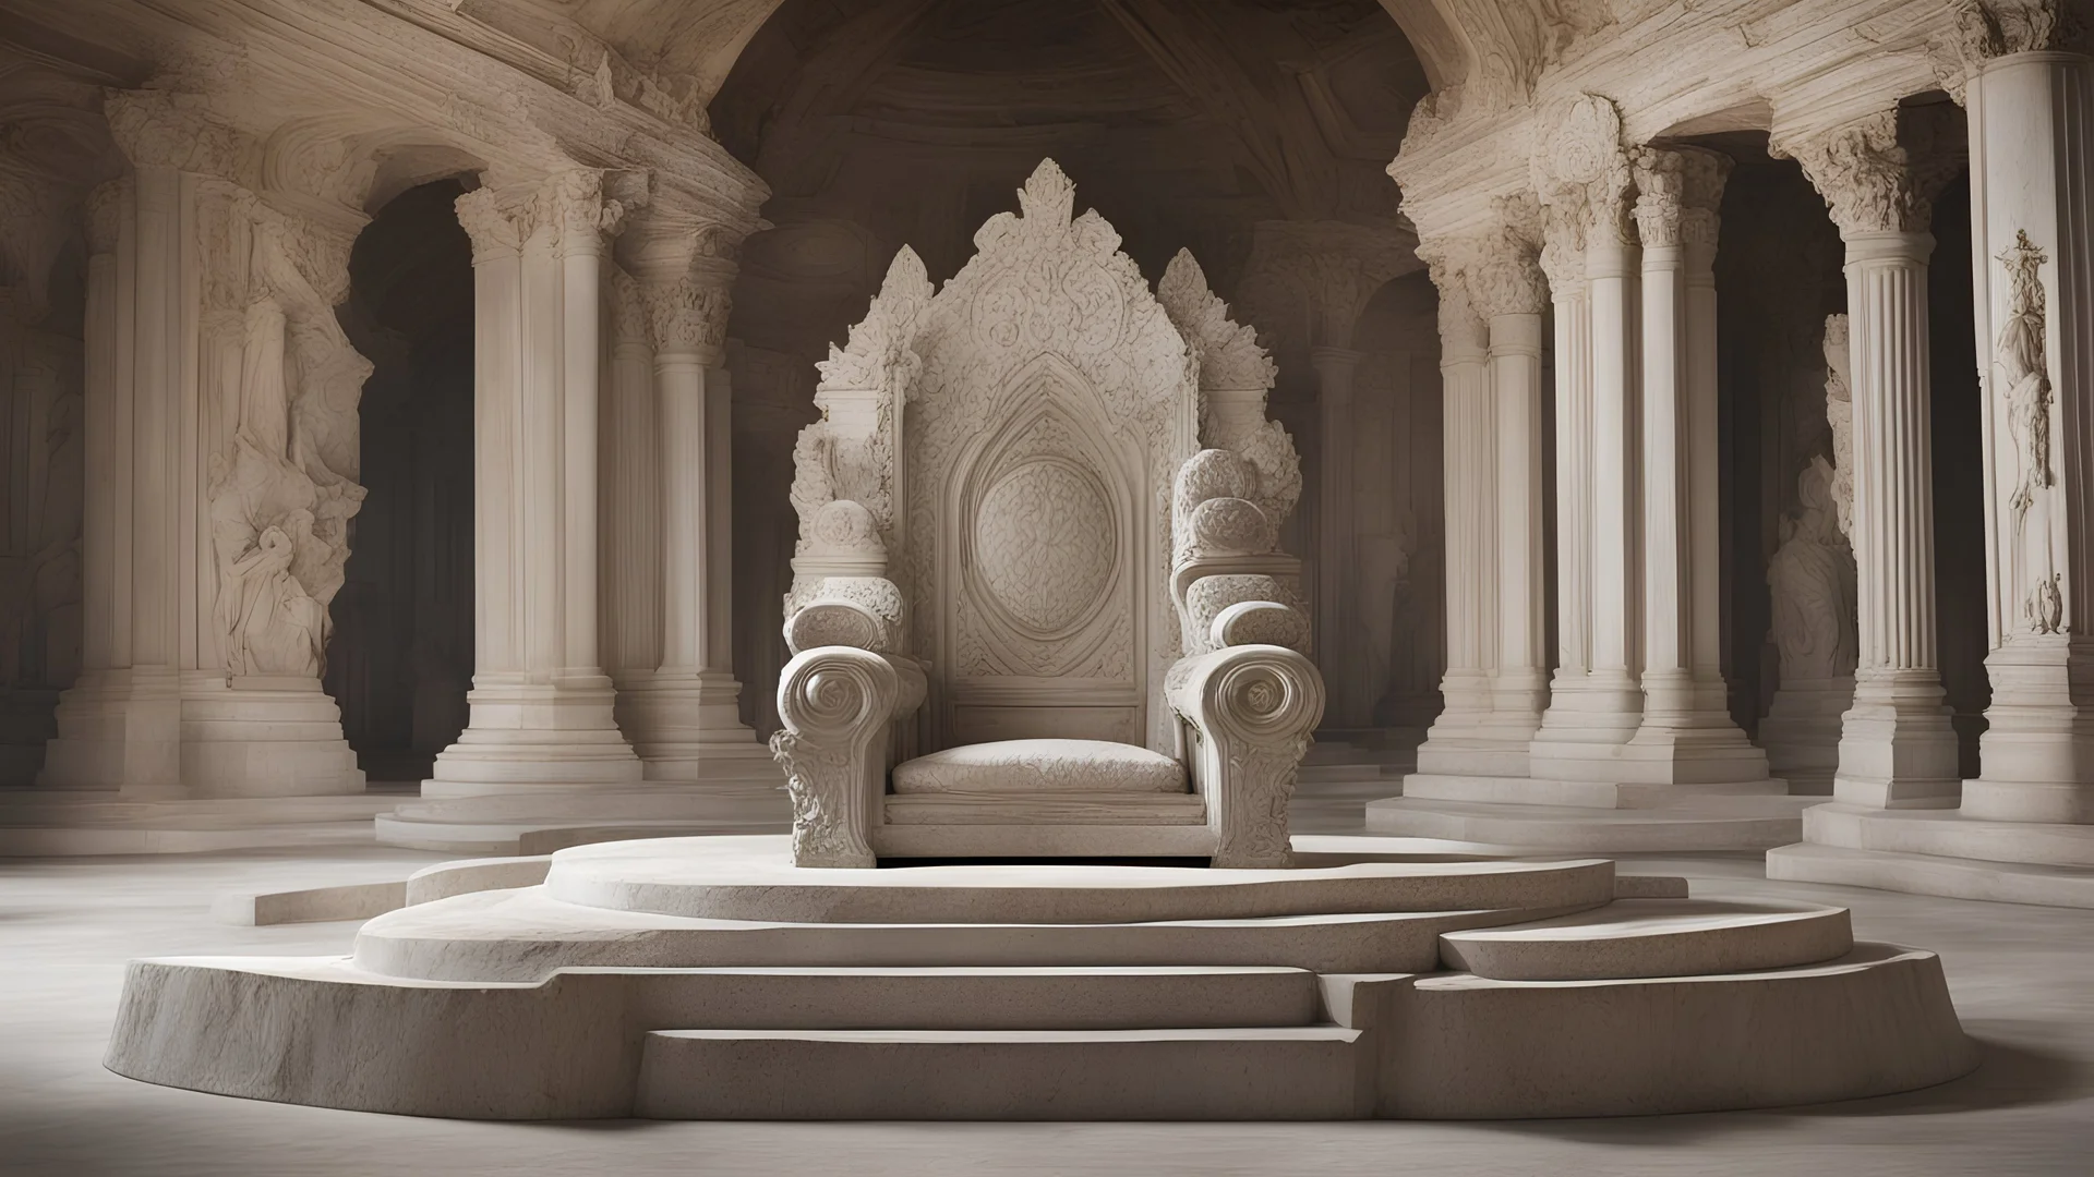
M 1962 813 L 2094 823 L 2094 61 L 2054 27 L 1973 31 L 1991 706 Z

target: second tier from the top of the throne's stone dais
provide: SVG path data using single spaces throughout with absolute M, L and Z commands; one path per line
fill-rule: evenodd
M 1439 934 L 1558 909 L 1275 915 L 1150 924 L 781 924 L 687 919 L 490 890 L 387 911 L 356 963 L 427 980 L 528 982 L 555 968 L 1292 965 L 1430 972 Z

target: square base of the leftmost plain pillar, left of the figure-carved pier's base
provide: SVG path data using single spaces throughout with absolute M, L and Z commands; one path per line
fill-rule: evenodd
M 90 790 L 126 800 L 186 796 L 182 683 L 174 670 L 98 670 L 59 695 L 59 735 L 44 746 L 44 790 Z

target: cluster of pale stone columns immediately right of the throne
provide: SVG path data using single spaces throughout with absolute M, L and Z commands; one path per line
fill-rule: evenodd
M 1447 599 L 1462 660 L 1405 796 L 1621 804 L 1489 783 L 1508 777 L 1778 792 L 1730 718 L 1721 670 L 1713 262 L 1728 170 L 1709 151 L 1631 153 L 1614 107 L 1585 96 L 1535 157 L 1539 201 L 1501 199 L 1485 232 L 1428 239 L 1449 356 Z M 1550 302 L 1558 649 L 1543 683 Z M 1455 427 L 1485 369 L 1487 404 Z

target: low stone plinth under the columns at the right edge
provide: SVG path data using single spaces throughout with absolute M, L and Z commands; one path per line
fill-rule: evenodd
M 1828 802 L 1805 810 L 1803 840 L 1767 850 L 1767 878 L 2094 907 L 2094 825 Z

